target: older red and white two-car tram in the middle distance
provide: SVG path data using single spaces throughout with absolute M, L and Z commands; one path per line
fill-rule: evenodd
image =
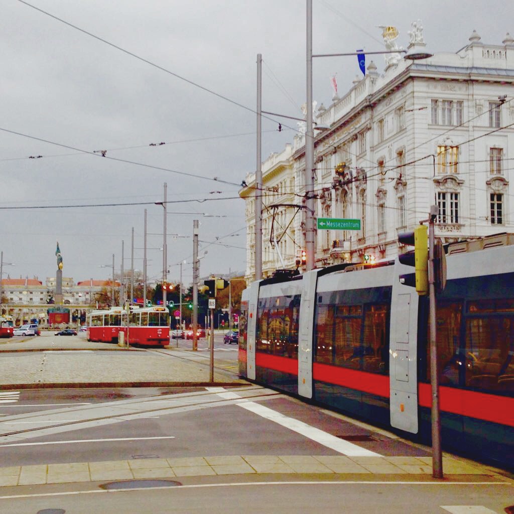
M 94 310 L 88 316 L 87 340 L 105 343 L 118 342 L 124 334 L 128 344 L 167 346 L 170 344 L 170 315 L 166 307 L 133 308 L 128 313 L 123 307 Z

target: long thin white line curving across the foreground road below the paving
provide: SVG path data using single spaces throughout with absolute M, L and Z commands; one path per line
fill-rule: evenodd
M 249 487 L 249 486 L 288 486 L 288 485 L 421 485 L 421 486 L 449 486 L 449 485 L 505 485 L 505 482 L 380 482 L 380 481 L 356 481 L 350 480 L 348 482 L 344 481 L 322 481 L 322 482 L 306 482 L 306 481 L 295 481 L 295 482 L 233 482 L 233 483 L 225 483 L 225 484 L 191 484 L 191 485 L 181 485 L 177 487 L 136 487 L 131 489 L 91 489 L 89 491 L 65 491 L 65 492 L 44 492 L 44 493 L 32 493 L 32 494 L 11 494 L 9 496 L 0 496 L 0 500 L 14 500 L 17 498 L 45 498 L 51 496 L 75 496 L 77 494 L 114 494 L 117 492 L 127 492 L 127 491 L 152 491 L 157 489 L 204 489 L 206 487 Z M 492 511 L 491 511 L 492 512 Z M 496 514 L 496 513 L 494 513 Z

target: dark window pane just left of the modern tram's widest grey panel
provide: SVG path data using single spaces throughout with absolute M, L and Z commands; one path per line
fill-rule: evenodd
M 363 370 L 389 372 L 389 308 L 387 304 L 366 305 L 364 313 Z

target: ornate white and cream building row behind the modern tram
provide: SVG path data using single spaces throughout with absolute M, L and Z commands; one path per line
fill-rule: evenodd
M 412 40 L 411 40 L 412 43 Z M 455 53 L 372 61 L 366 75 L 315 112 L 317 218 L 357 220 L 358 230 L 316 235 L 317 267 L 364 255 L 393 259 L 398 233 L 438 207 L 443 243 L 514 229 L 514 39 L 484 44 L 473 31 Z M 305 136 L 263 162 L 263 277 L 297 267 L 304 245 Z M 255 271 L 255 174 L 246 201 L 247 270 Z

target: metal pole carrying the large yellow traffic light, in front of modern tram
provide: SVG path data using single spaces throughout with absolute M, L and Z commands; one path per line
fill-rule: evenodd
M 432 385 L 432 476 L 443 478 L 443 455 L 441 451 L 441 420 L 439 410 L 439 373 L 437 368 L 437 337 L 435 320 L 435 274 L 434 274 L 434 220 L 438 209 L 430 208 L 428 224 L 428 291 L 430 304 L 430 383 Z

